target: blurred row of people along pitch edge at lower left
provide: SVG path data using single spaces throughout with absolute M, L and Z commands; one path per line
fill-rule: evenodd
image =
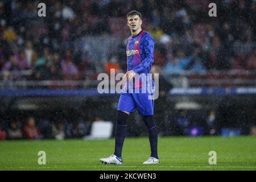
M 94 120 L 101 119 L 96 117 Z M 84 118 L 48 119 L 17 114 L 11 118 L 0 118 L 0 140 L 83 138 L 90 134 L 90 124 Z

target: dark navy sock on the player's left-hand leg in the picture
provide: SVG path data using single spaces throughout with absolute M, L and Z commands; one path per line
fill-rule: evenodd
M 117 126 L 115 130 L 115 152 L 114 155 L 122 158 L 123 142 L 127 134 L 127 119 L 129 115 L 123 111 L 117 111 Z

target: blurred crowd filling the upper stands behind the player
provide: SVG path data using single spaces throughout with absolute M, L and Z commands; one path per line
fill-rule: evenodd
M 38 16 L 38 3 L 0 1 L 1 80 L 96 80 L 99 70 L 125 72 L 131 10 L 142 13 L 143 28 L 155 39 L 154 64 L 167 76 L 184 70 L 256 69 L 255 0 L 220 1 L 217 17 L 209 17 L 205 0 L 51 0 L 45 18 Z M 122 41 L 98 62 L 89 44 L 75 44 L 85 36 Z M 26 70 L 32 73 L 9 74 Z

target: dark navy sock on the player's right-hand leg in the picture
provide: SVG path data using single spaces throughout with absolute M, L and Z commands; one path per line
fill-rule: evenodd
M 148 129 L 148 139 L 150 140 L 151 157 L 158 159 L 158 130 L 152 115 L 143 116 L 143 121 Z

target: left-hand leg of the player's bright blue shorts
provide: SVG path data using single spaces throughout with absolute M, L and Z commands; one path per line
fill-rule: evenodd
M 129 113 L 132 113 L 135 110 L 135 102 L 130 93 L 121 93 L 117 110 L 126 111 Z

